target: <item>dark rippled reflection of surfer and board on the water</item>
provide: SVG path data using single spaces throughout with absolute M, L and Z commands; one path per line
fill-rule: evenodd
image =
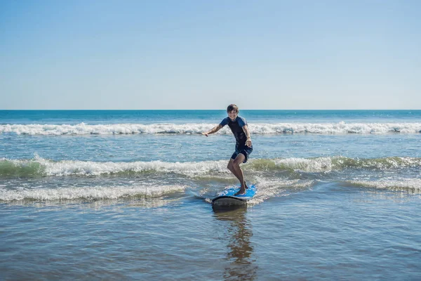
M 213 206 L 215 218 L 227 222 L 227 261 L 225 280 L 255 280 L 258 266 L 252 259 L 253 246 L 250 237 L 252 227 L 246 218 L 247 207 L 216 207 Z

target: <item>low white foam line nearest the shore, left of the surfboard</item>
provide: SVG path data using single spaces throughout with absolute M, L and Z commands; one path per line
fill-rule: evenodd
M 69 188 L 0 189 L 0 201 L 105 200 L 124 197 L 160 197 L 185 190 L 185 185 L 89 186 Z

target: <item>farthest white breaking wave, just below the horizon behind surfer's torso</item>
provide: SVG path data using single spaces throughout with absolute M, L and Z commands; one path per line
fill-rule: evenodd
M 110 134 L 199 134 L 215 124 L 2 124 L 0 133 L 18 135 L 110 135 Z M 250 124 L 254 134 L 318 133 L 318 134 L 385 134 L 421 133 L 421 123 L 278 123 Z M 231 133 L 227 127 L 218 133 Z

